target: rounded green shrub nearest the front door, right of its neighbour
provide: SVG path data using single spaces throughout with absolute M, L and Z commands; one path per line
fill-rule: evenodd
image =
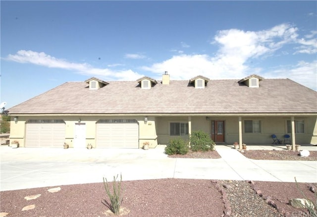
M 189 135 L 190 147 L 193 151 L 208 151 L 214 148 L 214 142 L 209 134 L 203 131 L 194 131 Z

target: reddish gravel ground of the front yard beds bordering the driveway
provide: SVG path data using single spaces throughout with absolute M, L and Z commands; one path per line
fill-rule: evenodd
M 317 151 L 310 152 L 313 160 L 316 160 Z M 287 150 L 248 150 L 243 154 L 250 158 L 257 157 L 255 159 L 308 159 L 296 156 L 295 152 Z M 190 152 L 177 157 L 219 158 L 220 156 L 216 151 L 209 151 Z M 314 193 L 309 190 L 314 185 L 317 189 L 317 183 L 299 183 L 303 193 L 316 201 Z M 303 198 L 295 183 L 157 179 L 123 181 L 122 186 L 124 217 L 309 216 L 305 210 L 288 205 L 291 198 Z M 109 200 L 103 183 L 55 187 L 60 187 L 60 191 L 50 193 L 48 192 L 50 188 L 47 187 L 0 192 L 0 217 L 4 216 L 4 213 L 8 213 L 7 217 L 111 216 L 104 202 Z M 26 196 L 39 194 L 41 196 L 37 199 L 24 199 Z M 28 205 L 34 205 L 34 209 L 22 211 L 22 208 Z

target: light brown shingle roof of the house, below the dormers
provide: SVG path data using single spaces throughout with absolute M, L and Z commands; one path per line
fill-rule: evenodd
M 196 89 L 188 80 L 159 81 L 141 89 L 137 81 L 109 81 L 90 90 L 66 82 L 9 109 L 9 114 L 317 113 L 317 92 L 290 79 L 264 79 L 259 88 L 239 80 L 210 80 Z

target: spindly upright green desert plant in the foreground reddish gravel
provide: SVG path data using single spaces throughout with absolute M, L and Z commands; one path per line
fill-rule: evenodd
M 106 202 L 107 207 L 114 213 L 115 215 L 118 215 L 120 212 L 120 206 L 122 203 L 122 188 L 121 188 L 121 183 L 122 183 L 122 175 L 120 175 L 120 181 L 116 181 L 118 178 L 118 175 L 116 177 L 113 176 L 113 181 L 112 181 L 112 188 L 113 190 L 110 191 L 110 188 L 108 186 L 108 181 L 104 177 L 104 186 L 106 193 L 110 199 L 110 204 Z

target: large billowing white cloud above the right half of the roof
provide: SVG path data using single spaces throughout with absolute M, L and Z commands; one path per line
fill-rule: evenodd
M 217 32 L 212 42 L 213 45 L 219 46 L 214 56 L 174 55 L 168 60 L 145 66 L 142 69 L 157 74 L 158 79 L 164 71 L 170 74 L 171 79 L 189 79 L 198 74 L 211 79 L 240 79 L 253 73 L 261 75 L 264 73 L 264 69 L 251 67 L 248 63 L 255 58 L 271 56 L 284 45 L 298 43 L 297 31 L 298 29 L 290 24 L 281 24 L 262 31 L 221 30 Z M 305 43 L 310 49 L 315 46 L 312 41 L 307 40 Z M 304 42 L 301 45 L 304 45 Z M 287 54 L 285 51 L 282 52 L 284 55 Z M 292 75 L 290 78 L 316 89 L 313 82 L 316 80 L 316 67 L 313 68 L 314 63 L 307 64 L 311 67 L 303 67 L 301 64 L 288 69 L 294 73 L 294 76 Z M 281 70 L 282 77 L 288 76 L 288 70 Z M 295 77 L 297 72 L 306 72 L 308 77 L 297 79 L 300 77 Z M 270 74 L 267 73 L 267 75 Z M 307 82 L 308 80 L 313 81 Z

